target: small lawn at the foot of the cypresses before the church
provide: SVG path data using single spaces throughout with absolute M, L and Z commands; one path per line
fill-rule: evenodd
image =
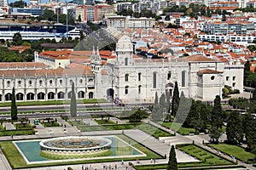
M 159 123 L 163 127 L 166 127 L 169 129 L 172 128 L 172 130 L 183 135 L 189 135 L 189 133 L 195 133 L 195 128 L 182 127 L 181 123 L 177 123 L 177 122 L 157 122 L 157 123 Z

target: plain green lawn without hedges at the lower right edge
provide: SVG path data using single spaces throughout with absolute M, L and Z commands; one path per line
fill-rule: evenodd
M 253 160 L 255 158 L 255 156 L 252 153 L 245 151 L 243 148 L 237 145 L 232 145 L 232 144 L 208 144 L 208 145 L 228 155 L 235 156 L 236 159 L 239 159 L 241 161 L 247 162 L 249 159 Z

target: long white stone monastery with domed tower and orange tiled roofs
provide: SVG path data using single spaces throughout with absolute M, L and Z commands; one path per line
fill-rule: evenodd
M 225 65 L 202 55 L 142 59 L 133 54 L 128 36 L 119 39 L 111 63 L 103 62 L 98 50 L 87 53 L 90 58 L 75 60 L 64 52 L 54 58 L 53 53 L 36 53 L 36 63 L 0 63 L 0 101 L 11 100 L 12 88 L 17 101 L 71 99 L 73 82 L 77 99 L 113 97 L 123 103 L 154 102 L 156 92 L 172 96 L 175 82 L 186 97 L 209 101 L 222 93 L 224 85 L 243 90 L 243 65 L 238 61 Z M 84 64 L 86 59 L 90 62 Z

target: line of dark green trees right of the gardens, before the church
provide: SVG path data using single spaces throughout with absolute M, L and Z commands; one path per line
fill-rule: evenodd
M 195 128 L 196 133 L 208 133 L 211 142 L 216 144 L 218 144 L 220 136 L 224 133 L 224 122 L 226 122 L 226 142 L 229 144 L 246 142 L 247 150 L 256 154 L 256 119 L 253 119 L 251 115 L 250 111 L 252 110 L 249 110 L 245 115 L 241 115 L 238 111 L 224 111 L 219 95 L 215 97 L 213 105 L 200 100 L 186 98 L 183 92 L 179 95 L 177 82 L 173 91 L 172 103 L 170 103 L 170 98 L 167 96 L 165 97 L 165 94 L 161 94 L 158 100 L 158 95 L 157 93 L 155 94 L 152 109 L 153 121 L 178 122 L 183 127 Z M 240 100 L 245 102 L 245 99 Z M 230 99 L 230 103 L 237 104 L 237 101 Z M 252 103 L 256 104 L 256 90 L 253 93 Z M 171 111 L 169 111 L 170 108 Z M 244 138 L 246 141 L 243 140 Z

